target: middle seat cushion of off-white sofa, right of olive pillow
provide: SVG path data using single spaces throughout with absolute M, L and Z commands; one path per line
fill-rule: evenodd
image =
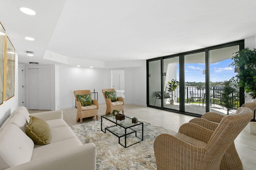
M 51 129 L 51 133 L 52 133 L 52 138 L 50 143 L 55 143 L 55 142 L 76 137 L 72 129 L 68 126 Z

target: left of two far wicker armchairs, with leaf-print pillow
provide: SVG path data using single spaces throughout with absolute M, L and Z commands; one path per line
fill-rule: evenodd
M 83 123 L 83 118 L 94 117 L 98 120 L 99 104 L 97 100 L 92 100 L 90 90 L 75 90 L 74 96 L 76 98 L 76 121 Z

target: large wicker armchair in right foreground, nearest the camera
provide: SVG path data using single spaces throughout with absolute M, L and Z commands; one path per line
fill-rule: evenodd
M 158 170 L 218 170 L 226 150 L 252 119 L 243 108 L 223 117 L 215 131 L 195 123 L 183 124 L 176 135 L 161 134 L 154 141 Z

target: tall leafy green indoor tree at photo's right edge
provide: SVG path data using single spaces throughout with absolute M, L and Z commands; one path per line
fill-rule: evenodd
M 231 78 L 232 82 L 244 87 L 253 99 L 256 98 L 256 49 L 242 49 L 234 53 L 233 62 L 230 64 L 239 69 L 238 74 Z M 255 121 L 255 111 L 252 121 Z

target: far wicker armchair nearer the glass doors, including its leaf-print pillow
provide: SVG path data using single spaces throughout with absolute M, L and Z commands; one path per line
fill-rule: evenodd
M 102 94 L 106 102 L 106 114 L 112 113 L 113 110 L 122 111 L 124 115 L 124 98 L 116 96 L 114 88 L 102 89 Z

